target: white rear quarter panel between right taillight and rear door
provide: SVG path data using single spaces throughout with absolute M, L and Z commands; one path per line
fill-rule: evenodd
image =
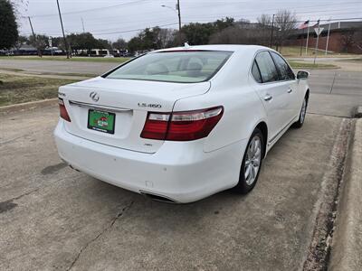
M 252 88 L 240 87 L 213 91 L 181 99 L 175 111 L 195 108 L 224 107 L 224 115 L 205 139 L 204 151 L 212 152 L 243 139 L 249 139 L 257 124 L 265 119 L 262 103 Z

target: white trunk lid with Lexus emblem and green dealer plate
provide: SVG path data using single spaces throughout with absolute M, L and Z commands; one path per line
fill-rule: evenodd
M 71 122 L 65 121 L 65 128 L 72 135 L 152 154 L 164 141 L 139 136 L 148 111 L 172 112 L 176 100 L 202 95 L 209 88 L 209 82 L 188 84 L 99 77 L 61 87 L 59 94 L 71 117 Z M 110 130 L 102 129 L 103 124 L 109 125 L 106 128 Z

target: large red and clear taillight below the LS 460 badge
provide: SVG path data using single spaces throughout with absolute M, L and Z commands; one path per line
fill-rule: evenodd
M 141 137 L 170 141 L 190 141 L 206 137 L 223 116 L 224 107 L 157 113 L 148 112 Z

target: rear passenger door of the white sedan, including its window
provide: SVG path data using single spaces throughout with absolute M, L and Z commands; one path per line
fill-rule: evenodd
M 268 114 L 268 128 L 272 141 L 288 122 L 288 92 L 285 84 L 279 80 L 278 70 L 268 51 L 261 51 L 256 55 L 252 75 L 259 83 L 256 87 L 257 93 Z

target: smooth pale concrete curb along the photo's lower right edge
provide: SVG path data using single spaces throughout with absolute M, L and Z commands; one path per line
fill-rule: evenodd
M 330 270 L 361 270 L 362 266 L 362 119 L 357 119 L 348 152 L 332 241 Z

